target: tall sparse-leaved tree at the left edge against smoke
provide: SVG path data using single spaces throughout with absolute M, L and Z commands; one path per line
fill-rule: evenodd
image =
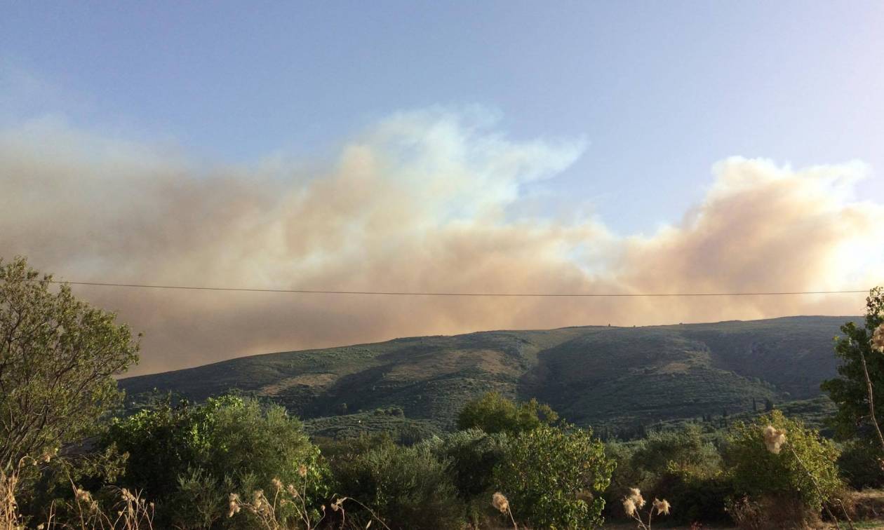
M 0 260 L 0 466 L 91 434 L 120 399 L 113 375 L 138 360 L 116 314 L 51 279 Z

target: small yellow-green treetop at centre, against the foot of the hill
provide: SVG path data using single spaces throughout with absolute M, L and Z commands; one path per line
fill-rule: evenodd
M 486 392 L 463 407 L 457 417 L 457 428 L 481 428 L 490 435 L 518 434 L 557 420 L 559 415 L 549 405 L 537 403 L 537 399 L 517 405 L 497 392 Z

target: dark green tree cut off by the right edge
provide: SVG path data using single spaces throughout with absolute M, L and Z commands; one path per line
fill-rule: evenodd
M 884 419 L 884 353 L 872 347 L 875 329 L 884 322 L 884 288 L 875 287 L 865 299 L 865 322 L 847 322 L 843 337 L 835 337 L 835 355 L 841 358 L 840 377 L 822 383 L 838 406 L 836 434 L 843 439 L 861 437 L 884 445 L 875 419 Z

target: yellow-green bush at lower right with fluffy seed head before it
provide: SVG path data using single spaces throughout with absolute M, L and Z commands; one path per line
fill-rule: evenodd
M 786 443 L 778 454 L 766 447 L 763 430 L 768 425 L 785 431 Z M 753 423 L 736 423 L 724 452 L 737 495 L 796 501 L 816 513 L 843 487 L 835 466 L 838 455 L 834 443 L 776 410 Z

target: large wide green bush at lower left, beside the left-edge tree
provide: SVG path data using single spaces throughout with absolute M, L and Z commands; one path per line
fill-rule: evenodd
M 278 405 L 230 396 L 199 406 L 167 402 L 115 421 L 106 443 L 128 452 L 121 484 L 155 501 L 166 526 L 248 527 L 254 521 L 245 511 L 226 518 L 228 495 L 272 491 L 273 479 L 298 485 L 312 519 L 331 493 L 324 458 Z

